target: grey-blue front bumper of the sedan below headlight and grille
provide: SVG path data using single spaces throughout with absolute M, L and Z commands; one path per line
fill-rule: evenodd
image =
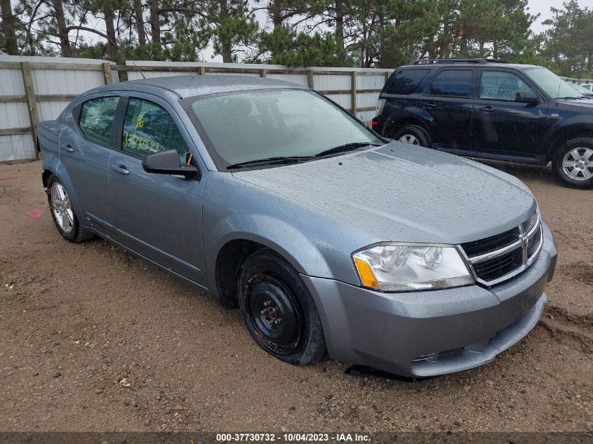
M 384 293 L 302 276 L 317 304 L 328 353 L 336 361 L 410 377 L 484 365 L 519 342 L 547 302 L 557 249 L 544 223 L 535 262 L 518 276 L 484 288 Z

